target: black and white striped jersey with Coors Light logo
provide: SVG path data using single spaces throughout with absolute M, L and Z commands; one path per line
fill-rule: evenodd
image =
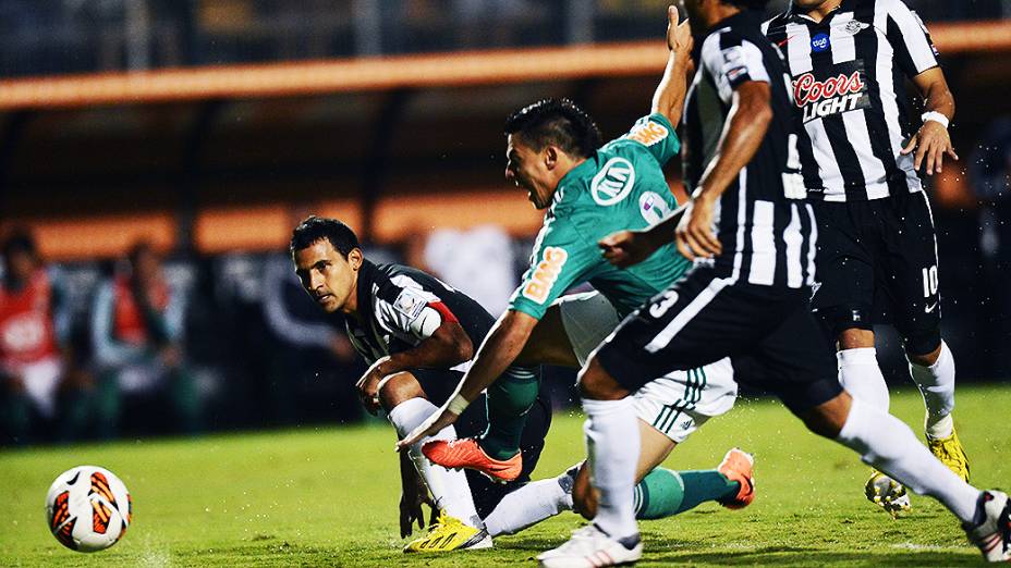
M 857 201 L 919 192 L 905 77 L 937 66 L 926 26 L 901 0 L 843 0 L 816 23 L 791 7 L 763 26 L 780 47 L 803 120 L 812 199 Z

